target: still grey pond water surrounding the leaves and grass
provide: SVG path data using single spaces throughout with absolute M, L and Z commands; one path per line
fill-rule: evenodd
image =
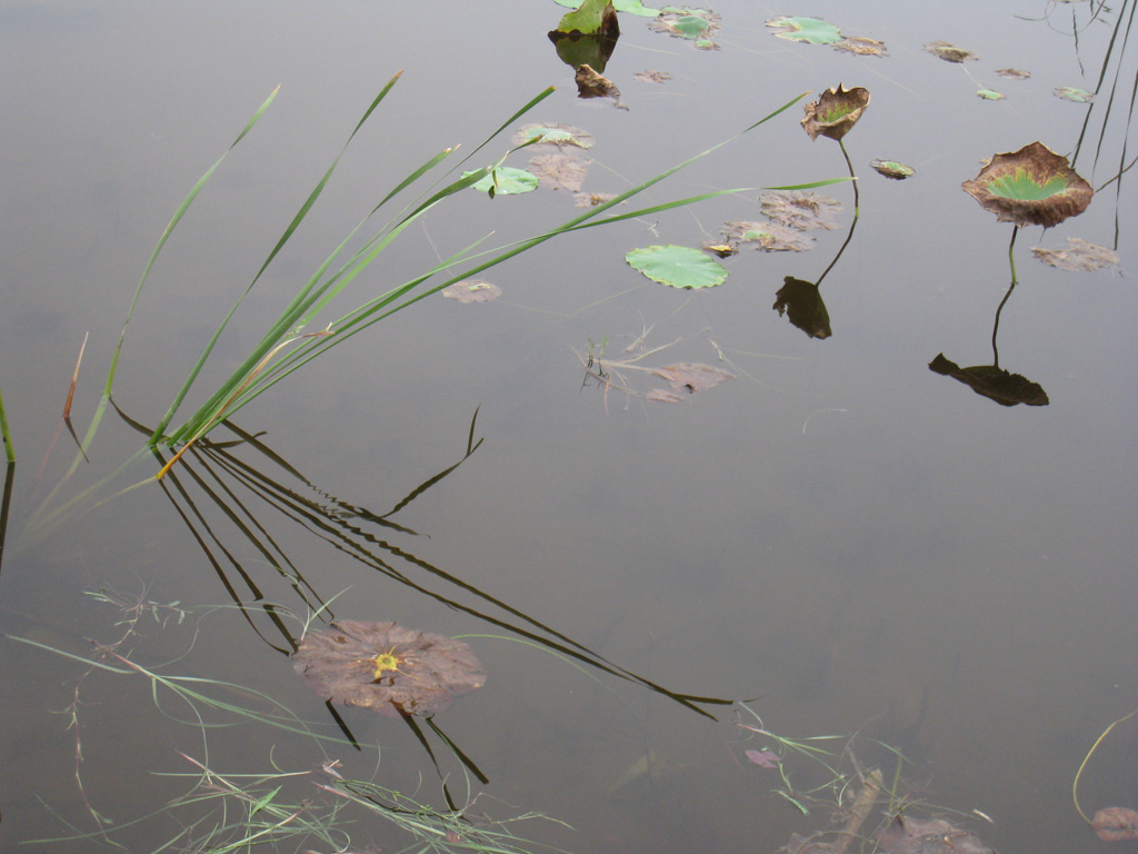
M 175 837 L 172 849 L 214 849 L 190 840 L 216 816 L 179 836 L 212 802 L 164 811 L 193 789 L 185 756 L 259 793 L 246 806 L 282 785 L 281 803 L 306 798 L 316 814 L 336 800 L 313 787 L 333 782 L 321 763 L 339 759 L 346 777 L 440 810 L 445 780 L 454 802 L 473 802 L 472 821 L 533 812 L 572 828 L 505 826 L 527 851 L 776 851 L 840 828 L 858 770 L 874 767 L 894 797 L 865 819 L 863 849 L 899 803 L 1005 853 L 1098 845 L 1072 781 L 1138 706 L 1133 173 L 1078 217 L 1017 235 L 999 367 L 1038 384 L 1046 405 L 1034 391 L 1032 405 L 1001 405 L 929 366 L 941 353 L 993 361 L 1013 227 L 960 191 L 981 159 L 1038 139 L 1102 188 L 1133 157 L 1133 8 L 724 0 L 714 51 L 622 14 L 604 69 L 621 108 L 577 97 L 546 35 L 564 11 L 552 2 L 0 5 L 0 388 L 18 455 L 0 566 L 5 851 L 113 839 L 149 852 Z M 881 40 L 888 56 L 774 38 L 766 20 L 787 14 Z M 979 59 L 937 58 L 923 47 L 934 40 Z M 996 74 L 1006 67 L 1031 76 Z M 801 104 L 865 87 L 872 101 L 843 140 L 856 229 L 851 186 L 820 187 L 843 205 L 838 229 L 810 232 L 802 253 L 743 246 L 723 261 L 727 280 L 699 291 L 649 281 L 625 253 L 761 220 L 759 189 L 560 237 L 483 274 L 500 299 L 431 296 L 256 399 L 233 419 L 242 433 L 211 434 L 256 442 L 203 446 L 211 457 L 188 455 L 162 485 L 122 492 L 158 467 L 143 457 L 118 471 L 145 442 L 126 419 L 158 422 L 399 69 L 193 405 L 388 189 L 446 146 L 475 149 L 550 84 L 465 169 L 505 154 L 527 122 L 564 123 L 595 140 L 584 189 L 621 192 L 807 90 Z M 165 223 L 278 84 L 147 282 L 114 380 L 125 418 L 108 409 L 90 461 L 65 478 L 74 441 L 57 435 L 59 412 L 84 335 L 80 436 Z M 1078 104 L 1057 87 L 1098 95 Z M 792 106 L 612 212 L 846 175 L 841 149 L 811 142 L 801 115 Z M 916 174 L 885 179 L 874 158 Z M 489 232 L 486 245 L 508 245 L 579 213 L 566 190 L 463 191 L 361 274 L 344 311 Z M 1121 266 L 1075 273 L 1032 257 L 1069 237 L 1116 251 Z M 786 277 L 823 273 L 825 339 L 772 309 Z M 636 368 L 684 362 L 734 379 L 650 400 L 667 384 Z M 322 619 L 463 637 L 487 683 L 437 731 L 369 709 L 336 717 L 287 658 L 321 603 Z M 201 680 L 180 684 L 230 708 L 166 689 L 156 703 L 123 659 Z M 278 712 L 266 697 L 323 740 L 232 711 Z M 225 725 L 203 729 L 198 712 Z M 775 736 L 830 753 L 819 762 Z M 762 748 L 782 754 L 782 773 L 748 761 Z M 1136 756 L 1131 720 L 1083 772 L 1088 814 L 1136 806 Z M 274 767 L 310 773 L 257 782 Z M 230 808 L 232 820 L 245 807 Z M 356 818 L 347 849 L 411 841 Z

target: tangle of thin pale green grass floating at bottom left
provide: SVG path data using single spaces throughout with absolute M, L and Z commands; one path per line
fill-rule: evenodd
M 517 837 L 511 827 L 530 819 L 545 819 L 538 813 L 525 813 L 505 820 L 492 821 L 476 810 L 479 795 L 471 790 L 471 778 L 464 773 L 465 797 L 455 803 L 444 786 L 445 807 L 434 807 L 418 796 L 405 795 L 376 780 L 358 780 L 340 773 L 340 763 L 328 757 L 325 748 L 331 745 L 349 747 L 343 738 L 330 737 L 315 731 L 308 723 L 272 697 L 242 685 L 221 680 L 193 676 L 167 675 L 146 667 L 118 652 L 133 638 L 139 621 L 152 616 L 160 625 L 176 616 L 182 622 L 189 613 L 178 602 L 159 603 L 150 601 L 143 593 L 129 601 L 114 592 L 100 591 L 93 597 L 119 607 L 123 618 L 119 638 L 106 646 L 96 644 L 97 654 L 90 658 L 66 652 L 23 638 L 9 638 L 46 651 L 80 662 L 85 671 L 76 682 L 74 701 L 68 709 L 69 726 L 75 733 L 75 785 L 84 808 L 94 826 L 83 831 L 73 821 L 60 815 L 55 806 L 48 810 L 71 832 L 53 838 L 25 840 L 30 843 L 73 843 L 77 840 L 99 841 L 126 849 L 118 840 L 125 832 L 137 832 L 141 827 L 155 826 L 163 819 L 173 820 L 180 828 L 150 849 L 154 854 L 163 851 L 222 852 L 248 851 L 253 847 L 272 847 L 288 843 L 289 849 L 310 849 L 313 845 L 328 846 L 332 851 L 356 849 L 370 843 L 369 839 L 353 839 L 355 828 L 363 831 L 371 818 L 382 818 L 406 836 L 409 847 L 419 852 L 476 851 L 488 854 L 525 854 L 536 844 Z M 200 732 L 201 756 L 198 759 L 188 754 L 180 755 L 193 765 L 193 770 L 182 773 L 160 773 L 158 777 L 187 779 L 190 788 L 164 806 L 152 812 L 112 822 L 92 804 L 96 788 L 81 774 L 83 742 L 80 718 L 81 687 L 94 672 L 118 676 L 142 676 L 150 683 L 151 698 L 156 708 L 170 721 L 191 726 Z M 251 699 L 249 705 L 221 699 L 224 695 L 237 693 Z M 178 715 L 171 711 L 180 701 L 188 714 Z M 257 711 L 254 705 L 269 711 Z M 208 731 L 234 723 L 254 723 L 266 731 L 280 730 L 290 736 L 310 740 L 320 753 L 319 770 L 289 771 L 278 765 L 271 756 L 271 770 L 256 773 L 224 773 L 217 770 L 211 756 Z M 444 741 L 450 745 L 450 741 Z M 457 753 L 457 749 L 454 748 Z M 378 765 L 379 754 L 376 761 Z M 241 757 L 242 764 L 245 758 Z M 322 800 L 305 797 L 303 791 L 294 791 L 297 781 L 313 785 L 325 796 Z M 547 821 L 552 821 L 546 819 Z M 554 821 L 555 824 L 562 824 Z M 567 826 L 566 826 L 567 827 Z M 162 832 L 159 830 L 151 832 Z M 168 832 L 168 831 L 166 831 Z M 536 846 L 547 849 L 547 846 Z M 134 849 L 134 848 L 132 848 Z

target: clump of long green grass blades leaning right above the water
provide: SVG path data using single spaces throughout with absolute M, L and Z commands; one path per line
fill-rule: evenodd
M 704 199 L 715 198 L 718 196 L 724 196 L 732 192 L 739 192 L 740 190 L 719 190 L 714 192 L 701 194 L 698 196 L 692 196 L 682 199 L 675 199 L 671 202 L 666 202 L 663 204 L 651 205 L 649 207 L 640 208 L 636 211 L 605 215 L 607 212 L 615 205 L 619 205 L 628 199 L 642 194 L 653 184 L 662 181 L 681 169 L 687 166 L 688 164 L 711 154 L 718 148 L 727 145 L 732 140 L 741 137 L 743 133 L 764 124 L 765 122 L 774 118 L 776 115 L 787 109 L 792 105 L 801 100 L 803 95 L 800 95 L 789 102 L 782 105 L 770 114 L 764 116 L 759 121 L 754 122 L 750 126 L 740 131 L 740 133 L 734 137 L 723 140 L 721 142 L 712 146 L 711 148 L 701 151 L 700 154 L 690 157 L 688 159 L 679 163 L 660 174 L 643 181 L 640 184 L 626 190 L 625 192 L 616 196 L 615 198 L 605 202 L 601 205 L 589 208 L 585 213 L 570 219 L 560 225 L 552 228 L 547 231 L 534 235 L 529 238 L 519 240 L 513 244 L 508 244 L 504 246 L 496 247 L 489 251 L 478 251 L 478 246 L 481 240 L 476 241 L 473 245 L 468 246 L 460 252 L 451 255 L 450 257 L 440 261 L 439 263 L 430 266 L 427 270 L 420 271 L 410 278 L 405 279 L 401 285 L 387 290 L 385 294 L 364 302 L 363 304 L 356 306 L 355 309 L 348 311 L 347 313 L 340 314 L 338 318 L 327 323 L 321 331 L 318 332 L 306 332 L 308 329 L 325 310 L 329 309 L 330 304 L 336 299 L 337 296 L 345 290 L 345 288 L 352 284 L 357 277 L 360 277 L 368 268 L 382 254 L 382 252 L 390 246 L 390 244 L 399 237 L 399 235 L 412 223 L 418 222 L 432 208 L 445 202 L 447 198 L 454 196 L 462 190 L 465 190 L 477 181 L 481 180 L 487 175 L 492 175 L 496 170 L 502 167 L 505 157 L 490 163 L 488 165 L 475 169 L 472 171 L 461 174 L 459 178 L 453 178 L 453 174 L 460 170 L 460 167 L 465 164 L 471 157 L 478 154 L 486 145 L 488 145 L 495 137 L 497 137 L 503 130 L 513 125 L 513 123 L 520 118 L 522 115 L 533 109 L 536 105 L 547 98 L 554 91 L 553 88 L 549 88 L 541 92 L 538 96 L 533 98 L 528 104 L 526 104 L 521 109 L 510 116 L 505 122 L 503 122 L 493 133 L 490 133 L 486 139 L 471 151 L 467 157 L 464 157 L 460 163 L 454 165 L 443 178 L 439 178 L 435 183 L 422 190 L 412 202 L 407 203 L 401 211 L 398 211 L 394 216 L 391 216 L 382 227 L 376 230 L 372 236 L 364 241 L 364 244 L 355 251 L 347 255 L 346 260 L 340 260 L 346 253 L 348 244 L 356 238 L 361 230 L 371 221 L 376 214 L 378 214 L 382 208 L 385 208 L 388 203 L 390 203 L 396 196 L 407 190 L 412 186 L 418 186 L 421 179 L 439 166 L 444 161 L 450 158 L 454 154 L 454 148 L 445 148 L 438 154 L 431 156 L 426 162 L 423 162 L 419 167 L 409 173 L 405 178 L 398 181 L 395 187 L 386 195 L 378 204 L 372 207 L 372 210 L 355 225 L 347 236 L 332 249 L 328 257 L 321 263 L 318 270 L 312 274 L 312 277 L 300 287 L 297 294 L 292 297 L 289 304 L 281 311 L 275 320 L 272 321 L 267 331 L 264 334 L 261 342 L 254 347 L 248 356 L 238 366 L 236 370 L 230 375 L 230 377 L 224 380 L 214 392 L 209 393 L 204 403 L 201 403 L 198 409 L 184 421 L 173 429 L 168 429 L 170 425 L 173 422 L 176 413 L 181 409 L 190 388 L 197 380 L 203 367 L 209 358 L 216 342 L 221 337 L 222 332 L 229 325 L 230 320 L 233 318 L 238 307 L 244 302 L 245 297 L 251 291 L 253 287 L 257 284 L 264 271 L 267 269 L 273 258 L 280 253 L 280 251 L 286 246 L 296 230 L 304 222 L 305 217 L 315 205 L 320 195 L 323 192 L 325 186 L 331 179 L 344 151 L 347 150 L 348 145 L 352 139 L 358 133 L 358 131 L 368 122 L 372 113 L 379 107 L 380 102 L 388 95 L 395 83 L 398 81 L 399 74 L 391 77 L 390 81 L 384 87 L 379 95 L 372 100 L 368 106 L 363 116 L 360 118 L 358 123 L 353 129 L 352 133 L 348 136 L 347 141 L 344 143 L 344 148 L 323 173 L 321 179 L 316 182 L 316 186 L 308 194 L 304 203 L 300 205 L 297 213 L 294 215 L 288 227 L 281 233 L 277 244 L 273 246 L 272 251 L 269 253 L 264 263 L 257 270 L 256 274 L 249 281 L 248 286 L 242 291 L 241 296 L 238 297 L 232 309 L 221 321 L 209 343 L 203 351 L 198 361 L 191 368 L 182 386 L 174 395 L 173 401 L 166 410 L 165 416 L 160 419 L 157 427 L 151 435 L 148 449 L 156 454 L 158 449 L 174 449 L 181 446 L 182 450 L 185 446 L 192 444 L 201 436 L 207 435 L 212 429 L 214 429 L 218 424 L 221 424 L 226 418 L 236 413 L 241 407 L 247 404 L 249 401 L 254 400 L 257 395 L 266 391 L 269 387 L 289 376 L 292 371 L 305 364 L 306 362 L 315 359 L 316 356 L 328 352 L 331 347 L 335 347 L 345 340 L 347 340 L 353 335 L 368 329 L 373 323 L 384 320 L 385 318 L 409 307 L 410 305 L 423 299 L 424 297 L 435 294 L 443 288 L 456 282 L 462 279 L 470 278 L 484 270 L 503 263 L 504 261 L 514 257 L 528 249 L 538 246 L 554 237 L 566 235 L 569 232 L 578 231 L 585 228 L 592 228 L 595 225 L 602 225 L 613 222 L 619 222 L 622 220 L 629 220 L 640 216 L 646 216 L 649 214 L 659 213 L 662 211 L 683 207 L 691 205 L 696 202 Z M 117 371 L 118 359 L 122 353 L 123 340 L 126 335 L 126 328 L 130 325 L 131 315 L 133 314 L 134 307 L 137 306 L 139 298 L 149 280 L 151 270 L 154 269 L 155 262 L 162 252 L 163 247 L 166 245 L 174 229 L 182 220 L 190 205 L 197 198 L 198 194 L 201 191 L 206 182 L 212 178 L 214 172 L 224 161 L 225 156 L 232 151 L 232 149 L 241 142 L 241 140 L 253 130 L 257 121 L 264 114 L 264 112 L 272 104 L 277 96 L 277 91 L 273 91 L 269 98 L 257 108 L 253 117 L 241 130 L 241 132 L 230 145 L 229 149 L 203 174 L 198 182 L 193 186 L 190 192 L 185 196 L 182 203 L 178 206 L 174 215 L 171 217 L 170 223 L 163 231 L 154 252 L 148 260 L 142 277 L 139 280 L 138 286 L 134 290 L 134 296 L 131 299 L 130 307 L 126 313 L 126 319 L 123 323 L 123 329 L 119 335 L 118 344 L 115 347 L 114 355 L 112 358 L 110 370 L 107 376 L 107 381 L 104 387 L 104 394 L 92 417 L 91 424 L 88 428 L 86 435 L 83 438 L 81 447 L 86 451 L 98 430 L 101 417 L 106 411 L 107 403 L 110 400 L 112 388 L 114 386 L 115 375 Z M 527 143 L 528 145 L 528 143 Z M 509 155 L 506 155 L 509 156 Z M 484 238 L 485 239 L 485 238 Z M 337 265 L 338 264 L 338 265 Z M 462 268 L 461 273 L 452 274 L 454 269 Z M 295 346 L 294 346 L 295 345 Z M 283 355 L 280 355 L 282 354 Z M 280 355 L 280 359 L 275 362 L 274 358 Z M 126 467 L 130 462 L 133 462 L 140 455 L 147 452 L 147 449 L 142 449 L 138 454 L 135 454 L 132 460 L 124 466 L 119 467 L 119 470 Z M 72 466 L 65 475 L 65 478 L 75 470 L 82 457 L 76 454 Z M 175 458 L 176 459 L 176 458 Z M 162 474 L 168 469 L 172 461 L 167 462 L 163 460 L 166 465 L 159 473 Z M 117 473 L 116 473 L 117 474 Z M 104 482 L 92 486 L 82 496 L 76 496 L 73 501 L 68 502 L 68 507 L 76 503 L 77 501 L 85 500 L 90 494 L 100 488 L 107 481 L 109 481 L 115 475 L 105 478 Z M 53 494 L 49 496 L 48 502 L 51 501 Z M 48 502 L 44 502 L 47 507 Z M 64 508 L 60 508 L 64 509 Z M 58 511 L 57 511 L 58 512 Z M 51 514 L 55 516 L 56 514 Z M 44 522 L 40 515 L 33 519 L 33 524 L 40 524 Z

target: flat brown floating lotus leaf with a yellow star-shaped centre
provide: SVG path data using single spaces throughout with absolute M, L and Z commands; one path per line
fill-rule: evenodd
M 292 667 L 325 700 L 388 717 L 432 715 L 486 683 L 462 641 L 395 623 L 337 621 L 305 635 Z

